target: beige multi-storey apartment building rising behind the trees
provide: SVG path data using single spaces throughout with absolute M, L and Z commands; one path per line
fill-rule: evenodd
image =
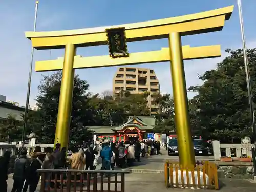
M 119 67 L 113 79 L 113 93 L 118 95 L 121 90 L 139 94 L 145 91 L 151 94 L 160 93 L 160 84 L 153 69 Z M 148 96 L 148 107 L 152 114 L 157 112 L 157 105 Z

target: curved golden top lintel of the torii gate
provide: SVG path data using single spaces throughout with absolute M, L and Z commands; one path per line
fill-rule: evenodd
M 181 35 L 192 35 L 205 32 L 219 31 L 224 26 L 233 11 L 233 6 L 205 11 L 190 15 L 89 29 L 26 32 L 36 49 L 63 48 L 71 43 L 76 46 L 106 45 L 106 32 L 108 28 L 125 27 L 127 42 L 167 38 L 169 32 L 180 32 Z

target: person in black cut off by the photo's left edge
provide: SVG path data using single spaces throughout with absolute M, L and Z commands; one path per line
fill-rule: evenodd
M 0 186 L 1 191 L 7 192 L 7 179 L 8 179 L 8 167 L 10 161 L 10 151 L 6 151 L 4 156 L 0 159 Z

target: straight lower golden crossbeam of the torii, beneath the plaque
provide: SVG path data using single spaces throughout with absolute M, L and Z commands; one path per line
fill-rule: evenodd
M 182 46 L 183 59 L 200 59 L 221 56 L 221 46 L 190 47 Z M 74 69 L 96 68 L 108 66 L 134 65 L 140 63 L 153 63 L 169 61 L 169 48 L 162 48 L 160 51 L 148 51 L 140 53 L 130 53 L 129 57 L 111 58 L 109 55 L 74 58 Z M 63 57 L 56 60 L 36 61 L 35 71 L 56 71 L 63 68 Z

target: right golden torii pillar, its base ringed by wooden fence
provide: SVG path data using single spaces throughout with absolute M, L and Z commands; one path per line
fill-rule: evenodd
M 188 115 L 188 101 L 184 65 L 182 59 L 181 37 L 177 32 L 169 34 L 169 50 L 172 73 L 175 126 L 178 137 L 179 162 L 183 167 L 195 166 L 195 154 Z

